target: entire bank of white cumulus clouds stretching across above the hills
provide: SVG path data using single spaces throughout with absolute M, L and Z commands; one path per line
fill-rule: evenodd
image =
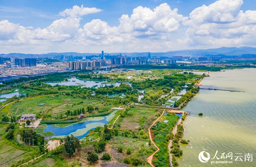
M 118 26 L 100 19 L 80 25 L 80 16 L 102 11 L 74 6 L 46 28 L 23 27 L 0 21 L 0 51 L 11 52 L 164 52 L 193 47 L 256 46 L 256 11 L 240 10 L 242 0 L 219 0 L 178 14 L 162 3 L 154 9 L 139 6 L 123 14 Z

